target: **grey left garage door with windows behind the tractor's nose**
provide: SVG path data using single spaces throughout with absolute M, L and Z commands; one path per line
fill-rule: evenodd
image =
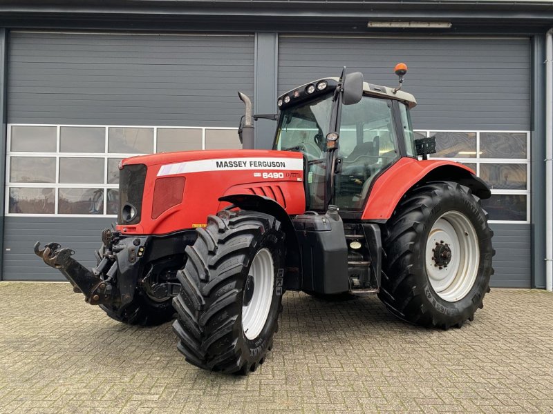
M 117 185 L 110 171 L 118 158 L 170 150 L 179 139 L 189 140 L 188 149 L 224 146 L 236 132 L 218 128 L 236 128 L 243 112 L 236 90 L 253 95 L 254 37 L 248 35 L 12 32 L 8 59 L 8 164 L 13 171 L 7 177 L 6 280 L 59 279 L 31 254 L 37 239 L 71 246 L 77 259 L 91 266 L 100 231 L 115 221 L 109 200 Z M 14 130 L 13 124 L 23 128 Z M 45 127 L 28 128 L 37 125 Z M 71 125 L 83 128 L 79 139 L 99 137 L 100 149 L 86 139 L 86 149 L 64 141 L 64 133 L 75 133 L 67 128 Z M 33 131 L 44 139 L 29 137 Z M 112 150 L 112 135 L 113 148 L 126 148 L 122 143 L 134 139 L 129 145 L 134 143 L 135 150 Z M 50 139 L 52 147 L 41 149 Z M 85 178 L 79 161 L 86 160 L 79 157 L 103 166 L 100 176 L 106 178 Z M 42 172 L 21 171 L 39 158 Z M 95 210 L 93 194 L 103 195 L 106 207 L 98 204 L 100 211 Z

